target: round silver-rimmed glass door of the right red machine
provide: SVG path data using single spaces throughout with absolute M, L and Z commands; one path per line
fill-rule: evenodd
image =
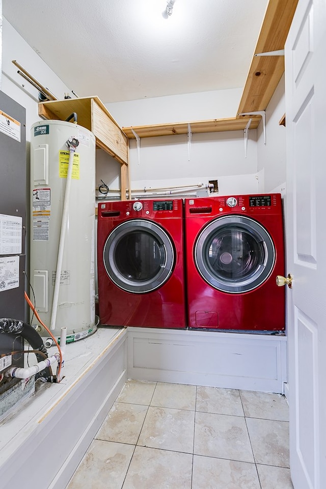
M 195 262 L 215 289 L 243 293 L 259 287 L 275 264 L 275 247 L 265 228 L 246 216 L 210 222 L 195 244 Z

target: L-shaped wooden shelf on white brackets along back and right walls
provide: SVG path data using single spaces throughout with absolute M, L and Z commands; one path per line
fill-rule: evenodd
M 298 0 L 269 0 L 259 34 L 255 53 L 284 49 Z M 284 56 L 253 57 L 237 114 L 230 119 L 213 119 L 189 122 L 193 133 L 238 131 L 246 127 L 249 116 L 243 112 L 264 111 L 284 73 Z M 255 129 L 261 118 L 253 117 L 250 125 Z M 188 122 L 123 127 L 129 139 L 134 139 L 131 129 L 140 138 L 153 138 L 173 134 L 186 134 Z

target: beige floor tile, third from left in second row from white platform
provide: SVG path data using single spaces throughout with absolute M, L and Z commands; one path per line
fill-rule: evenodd
M 246 421 L 239 416 L 196 412 L 194 453 L 253 462 Z

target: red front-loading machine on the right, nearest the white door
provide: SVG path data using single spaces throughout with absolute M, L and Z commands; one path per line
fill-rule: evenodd
M 185 200 L 189 328 L 283 331 L 280 194 Z

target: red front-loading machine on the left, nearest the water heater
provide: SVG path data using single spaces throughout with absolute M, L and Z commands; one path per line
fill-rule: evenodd
M 183 201 L 98 205 L 100 323 L 185 328 Z

